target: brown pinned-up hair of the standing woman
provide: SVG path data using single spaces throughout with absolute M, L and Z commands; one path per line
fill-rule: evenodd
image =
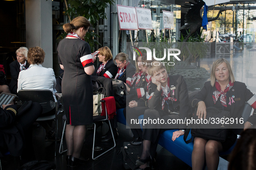
M 63 29 L 66 33 L 72 32 L 72 30 L 77 30 L 80 27 L 84 27 L 87 30 L 90 27 L 91 23 L 88 19 L 83 16 L 78 16 L 74 18 L 70 23 L 66 23 L 63 25 Z

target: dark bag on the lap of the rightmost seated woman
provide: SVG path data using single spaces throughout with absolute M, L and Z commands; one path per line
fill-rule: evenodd
M 197 108 L 195 108 L 192 119 L 198 120 L 196 115 Z M 198 137 L 207 140 L 215 140 L 219 142 L 224 142 L 226 140 L 227 129 L 229 128 L 228 124 L 225 124 L 225 119 L 230 118 L 230 112 L 225 110 L 220 110 L 216 107 L 207 107 L 206 108 L 206 119 L 207 124 L 205 123 L 193 123 L 188 126 L 188 129 L 185 132 L 184 140 L 186 143 L 192 141 L 192 139 L 187 140 L 188 133 L 191 128 L 191 135 L 193 137 Z M 221 120 L 221 121 L 217 121 Z M 197 121 L 199 122 L 199 121 Z M 205 121 L 206 122 L 206 121 Z

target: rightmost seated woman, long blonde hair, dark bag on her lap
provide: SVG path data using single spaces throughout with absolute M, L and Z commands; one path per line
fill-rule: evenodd
M 211 69 L 211 81 L 204 83 L 204 88 L 191 98 L 190 105 L 198 107 L 198 118 L 206 118 L 206 107 L 217 107 L 220 110 L 229 111 L 231 117 L 240 119 L 245 102 L 256 108 L 256 95 L 253 94 L 244 83 L 235 81 L 230 63 L 220 58 L 216 60 Z M 226 140 L 207 140 L 194 138 L 192 151 L 192 168 L 201 170 L 206 161 L 208 170 L 217 170 L 219 164 L 219 152 L 227 151 L 237 140 L 237 135 L 243 128 L 250 126 L 254 116 L 251 116 L 244 125 L 232 124 L 232 129 L 227 129 Z

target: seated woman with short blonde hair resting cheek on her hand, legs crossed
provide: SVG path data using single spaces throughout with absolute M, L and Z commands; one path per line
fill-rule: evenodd
M 152 76 L 152 93 L 148 100 L 149 109 L 144 112 L 144 120 L 185 120 L 189 113 L 188 89 L 185 79 L 181 75 L 167 74 L 163 63 L 152 62 L 149 66 L 149 75 Z M 154 86 L 154 87 L 153 87 Z M 145 124 L 143 126 L 143 151 L 136 161 L 138 169 L 145 169 L 155 157 L 159 135 L 168 129 L 179 129 L 173 132 L 172 140 L 175 141 L 184 135 L 185 124 Z

